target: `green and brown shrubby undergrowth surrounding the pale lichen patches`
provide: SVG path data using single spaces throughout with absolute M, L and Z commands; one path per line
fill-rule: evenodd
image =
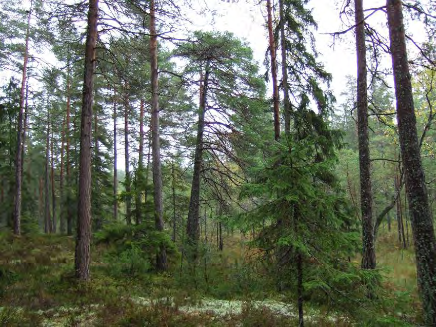
M 114 241 L 110 240 L 112 237 Z M 276 299 L 289 303 L 291 312 L 297 314 L 294 290 L 279 292 L 268 267 L 251 256 L 253 252 L 248 251 L 239 235 L 225 239 L 223 252 L 217 252 L 213 246 L 204 248 L 194 274 L 186 259 L 181 267 L 175 249 L 169 252 L 170 271 L 156 274 L 152 269 L 153 255 L 144 256 L 148 249 L 154 252 L 154 247 L 137 247 L 135 238 L 130 236 L 111 234 L 106 243 L 103 239 L 92 245 L 92 281 L 79 283 L 73 275 L 74 238 L 42 234 L 15 237 L 1 233 L 0 325 L 38 326 L 44 321 L 62 321 L 64 325 L 82 325 L 87 321 L 87 325 L 95 326 L 298 325 L 296 316 L 277 315 L 268 307 L 252 304 L 253 300 Z M 388 265 L 388 269 L 382 271 L 385 277 L 380 281 L 377 297 L 367 299 L 364 290 L 353 293 L 342 289 L 341 280 L 333 282 L 326 276 L 328 284 L 334 285 L 329 291 L 338 293 L 338 301 L 326 301 L 320 285 L 311 290 L 311 285 L 306 284 L 305 314 L 310 316 L 306 325 L 418 324 L 420 312 L 415 280 L 409 276 L 404 285 L 403 276 L 396 274 L 397 266 L 414 264 L 412 258 L 405 255 L 406 251 L 412 252 L 406 250 L 401 256 L 401 250 L 392 246 L 391 241 L 390 236 L 384 234 L 378 240 L 379 265 Z M 355 266 L 359 265 L 358 259 L 354 262 Z M 290 271 L 287 278 L 295 276 Z M 351 297 L 352 294 L 360 294 L 361 298 Z M 170 298 L 172 304 L 138 304 L 132 301 L 135 296 Z M 195 307 L 204 297 L 237 299 L 246 304 L 242 312 L 226 318 L 217 318 L 208 312 L 179 310 Z

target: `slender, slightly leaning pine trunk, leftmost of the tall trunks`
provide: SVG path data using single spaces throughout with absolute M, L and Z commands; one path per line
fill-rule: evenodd
M 23 62 L 23 75 L 21 80 L 21 93 L 19 95 L 19 111 L 17 121 L 17 150 L 15 159 L 15 200 L 14 200 L 14 234 L 21 235 L 21 188 L 23 177 L 23 112 L 24 112 L 24 91 L 26 87 L 26 72 L 29 52 L 29 34 L 30 34 L 30 15 L 32 12 L 32 1 L 30 2 L 30 10 L 27 17 L 27 30 L 26 30 L 26 46 L 24 48 L 24 62 Z

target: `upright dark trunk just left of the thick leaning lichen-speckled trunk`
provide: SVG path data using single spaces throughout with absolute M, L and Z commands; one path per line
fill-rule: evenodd
M 366 85 L 366 45 L 363 0 L 354 0 L 356 53 L 358 63 L 357 107 L 360 166 L 360 198 L 362 211 L 362 268 L 375 268 L 375 247 L 372 222 L 371 161 L 368 140 L 368 99 Z

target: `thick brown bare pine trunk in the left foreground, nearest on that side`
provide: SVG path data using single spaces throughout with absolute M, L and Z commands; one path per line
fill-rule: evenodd
M 98 0 L 89 0 L 88 27 L 85 46 L 82 114 L 80 131 L 80 170 L 77 204 L 77 238 L 75 246 L 75 276 L 89 280 L 91 242 L 91 137 L 94 94 L 95 46 L 97 42 Z

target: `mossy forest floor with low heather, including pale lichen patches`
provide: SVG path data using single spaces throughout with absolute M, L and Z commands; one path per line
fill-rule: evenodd
M 392 230 L 395 230 L 392 228 Z M 393 314 L 413 325 L 419 301 L 414 257 L 394 232 L 381 232 L 378 264 L 384 287 L 399 299 Z M 73 277 L 74 239 L 67 236 L 14 237 L 0 233 L 0 325 L 4 326 L 296 326 L 295 297 L 276 292 L 262 277 L 253 285 L 242 270 L 222 271 L 247 260 L 240 237 L 228 237 L 223 253 L 211 252 L 204 280 L 172 263 L 166 274 L 126 273 L 108 247 L 93 246 L 91 282 Z M 109 259 L 108 259 L 109 258 Z M 206 262 L 206 260 L 205 260 Z M 359 264 L 359 258 L 355 259 Z M 124 268 L 123 268 L 124 267 Z M 199 267 L 199 270 L 204 268 Z M 182 273 L 182 271 L 184 273 Z M 199 276 L 203 273 L 197 272 Z M 246 281 L 244 281 L 246 280 Z M 256 280 L 254 279 L 256 283 Z M 264 284 L 264 285 L 261 285 Z M 405 300 L 406 299 L 406 300 Z M 398 307 L 396 307 L 398 305 Z M 409 307 L 409 313 L 404 308 Z M 410 324 L 406 323 L 409 321 Z M 323 306 L 305 304 L 306 326 L 370 325 Z M 386 323 L 386 325 L 392 325 Z

